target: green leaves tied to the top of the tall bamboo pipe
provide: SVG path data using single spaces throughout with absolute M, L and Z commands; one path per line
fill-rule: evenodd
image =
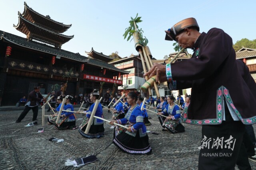
M 129 21 L 130 26 L 125 29 L 123 37 L 124 37 L 124 40 L 125 40 L 127 38 L 127 36 L 128 36 L 127 41 L 129 41 L 130 38 L 132 37 L 132 34 L 134 32 L 136 32 L 136 28 L 137 28 L 137 32 L 139 34 L 139 44 L 141 44 L 142 46 L 146 46 L 148 44 L 148 39 L 146 37 L 143 38 L 143 35 L 142 35 L 143 31 L 142 31 L 142 29 L 141 28 L 138 29 L 139 27 L 138 27 L 137 24 L 139 22 L 142 22 L 142 20 L 140 20 L 141 17 L 138 17 L 138 18 L 137 17 L 138 17 L 138 13 L 137 13 L 135 18 L 131 17 L 131 20 Z M 135 27 L 135 25 L 136 25 L 136 27 Z M 131 41 L 132 41 L 132 39 L 131 39 Z

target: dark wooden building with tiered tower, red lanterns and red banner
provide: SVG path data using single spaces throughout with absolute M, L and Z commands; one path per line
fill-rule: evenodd
M 54 84 L 65 83 L 68 72 L 68 87 L 65 94 L 78 95 L 100 89 L 117 89 L 122 79 L 114 76 L 127 74 L 105 61 L 88 58 L 79 53 L 61 49 L 62 44 L 74 36 L 62 34 L 70 25 L 56 22 L 32 10 L 26 2 L 24 12 L 18 13 L 19 21 L 14 28 L 26 38 L 0 30 L 0 105 L 15 105 L 28 95 L 34 86 L 43 84 L 40 92 L 50 93 Z M 56 89 L 58 91 L 59 89 Z

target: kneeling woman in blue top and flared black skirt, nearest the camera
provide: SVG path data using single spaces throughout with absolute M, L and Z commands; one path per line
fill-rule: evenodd
M 114 123 L 122 125 L 129 124 L 127 130 L 119 131 L 120 133 L 114 137 L 113 143 L 120 150 L 128 154 L 150 154 L 152 149 L 148 142 L 148 134 L 146 132 L 146 126 L 143 123 L 142 112 L 136 103 L 137 100 L 137 94 L 133 91 L 130 92 L 127 96 L 127 102 L 131 105 L 128 113 L 123 119 L 110 121 L 110 125 Z M 118 128 L 115 128 L 116 130 Z

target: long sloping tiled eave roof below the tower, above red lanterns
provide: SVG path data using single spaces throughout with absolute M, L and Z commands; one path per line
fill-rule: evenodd
M 88 64 L 91 64 L 91 65 L 97 65 L 98 67 L 104 67 L 104 68 L 112 69 L 112 70 L 119 71 L 122 73 L 129 73 L 129 71 L 124 71 L 122 69 L 118 69 L 118 68 L 114 67 L 112 64 L 108 64 L 104 61 L 100 61 L 100 60 L 96 60 L 96 59 L 89 59 L 88 57 L 85 57 L 78 53 L 72 53 L 70 51 L 66 51 L 63 49 L 58 50 L 54 47 L 50 47 L 50 46 L 42 44 L 42 43 L 38 43 L 38 42 L 34 42 L 34 41 L 27 41 L 26 38 L 22 38 L 22 37 L 14 35 L 14 34 L 3 32 L 1 30 L 0 30 L 0 35 L 1 35 L 0 40 L 2 40 L 2 41 L 5 40 L 9 43 L 13 43 L 18 46 L 22 46 L 24 48 L 34 49 L 36 51 L 42 51 L 44 53 L 58 55 L 60 57 L 64 57 L 64 58 L 68 58 L 68 59 L 72 59 L 72 60 L 76 60 L 76 61 L 80 61 L 80 62 L 88 62 Z

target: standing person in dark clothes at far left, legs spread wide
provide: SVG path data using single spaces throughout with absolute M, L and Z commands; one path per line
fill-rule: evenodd
M 28 100 L 25 104 L 25 109 L 18 117 L 16 123 L 20 123 L 22 119 L 24 119 L 24 117 L 30 111 L 30 109 L 32 109 L 33 111 L 32 121 L 38 121 L 37 120 L 38 106 L 41 101 L 44 101 L 44 97 L 39 91 L 40 91 L 40 87 L 34 87 L 34 90 L 28 94 Z

